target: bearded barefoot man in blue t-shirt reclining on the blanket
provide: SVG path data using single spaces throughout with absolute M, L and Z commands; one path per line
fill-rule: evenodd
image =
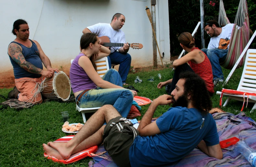
M 196 146 L 207 155 L 222 159 L 216 124 L 208 113 L 212 101 L 204 81 L 195 73 L 182 73 L 171 95 L 161 95 L 151 103 L 137 130 L 112 105 L 104 105 L 69 142 L 49 142 L 43 148 L 48 155 L 67 159 L 103 142 L 121 167 L 175 162 Z M 171 103 L 172 108 L 151 123 L 157 106 Z M 107 125 L 103 125 L 105 121 Z

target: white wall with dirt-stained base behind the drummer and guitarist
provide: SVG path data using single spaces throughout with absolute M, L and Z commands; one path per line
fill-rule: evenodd
M 7 46 L 16 37 L 11 31 L 13 22 L 19 18 L 28 22 L 29 38 L 39 42 L 52 66 L 63 66 L 69 73 L 70 59 L 79 53 L 82 30 L 96 23 L 110 23 L 115 13 L 122 13 L 126 18 L 122 27 L 126 41 L 144 46 L 140 50 L 129 50 L 132 65 L 144 67 L 153 64 L 152 29 L 145 12 L 145 6 L 151 6 L 150 0 L 15 0 L 15 3 L 0 0 L 0 3 L 0 72 L 12 68 Z M 163 61 L 169 61 L 168 0 L 157 0 L 156 21 L 160 52 L 165 53 Z M 161 64 L 158 53 L 157 58 Z M 8 74 L 0 73 L 0 79 L 10 77 L 10 72 L 13 77 L 13 70 L 10 70 Z

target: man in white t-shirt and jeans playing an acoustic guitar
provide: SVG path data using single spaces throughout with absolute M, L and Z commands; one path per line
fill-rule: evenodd
M 130 46 L 128 43 L 125 43 L 125 34 L 121 30 L 124 25 L 125 17 L 120 13 L 116 13 L 111 23 L 98 23 L 92 26 L 89 26 L 83 30 L 83 34 L 86 33 L 95 33 L 100 37 L 107 36 L 110 39 L 111 43 L 123 43 L 123 47 L 111 47 L 111 54 L 108 56 L 109 66 L 111 68 L 111 63 L 120 64 L 118 73 L 122 78 L 123 85 L 125 84 L 127 75 L 131 66 L 131 55 L 127 52 L 129 51 Z M 100 44 L 103 45 L 103 41 L 100 39 Z M 118 50 L 118 52 L 117 52 Z

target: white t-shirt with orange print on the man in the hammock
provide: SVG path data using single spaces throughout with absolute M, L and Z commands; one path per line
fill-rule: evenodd
M 228 49 L 233 26 L 234 24 L 227 24 L 222 27 L 220 35 L 211 38 L 207 49 Z

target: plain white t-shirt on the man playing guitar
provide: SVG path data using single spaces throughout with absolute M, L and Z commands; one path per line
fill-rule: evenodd
M 111 43 L 125 43 L 125 34 L 122 30 L 114 30 L 108 23 L 98 23 L 87 27 L 92 33 L 99 37 L 108 36 Z M 111 47 L 111 53 L 117 51 L 121 47 Z

